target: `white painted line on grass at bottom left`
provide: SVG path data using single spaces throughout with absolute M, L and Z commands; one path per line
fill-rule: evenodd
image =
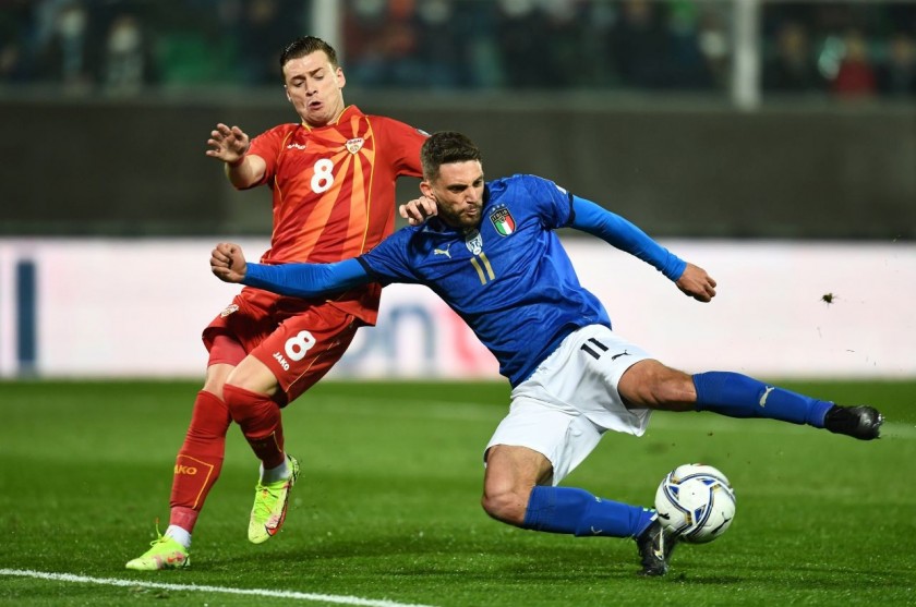
M 117 578 L 88 578 L 72 573 L 48 573 L 28 569 L 0 569 L 0 575 L 17 578 L 33 578 L 52 582 L 74 582 L 79 584 L 98 584 L 103 586 L 143 587 L 182 592 L 209 592 L 219 594 L 237 594 L 263 596 L 269 598 L 286 598 L 292 600 L 309 600 L 315 603 L 333 603 L 336 605 L 359 605 L 361 607 L 432 607 L 415 603 L 397 603 L 394 600 L 360 598 L 336 594 L 316 594 L 293 591 L 272 591 L 265 588 L 232 588 L 227 586 L 202 586 L 197 584 L 168 584 L 164 582 L 144 582 L 142 580 L 119 580 Z

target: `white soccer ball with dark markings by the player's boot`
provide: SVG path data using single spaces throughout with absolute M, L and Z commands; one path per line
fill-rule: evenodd
M 711 465 L 689 463 L 668 473 L 655 491 L 659 521 L 683 542 L 712 542 L 735 518 L 735 491 Z

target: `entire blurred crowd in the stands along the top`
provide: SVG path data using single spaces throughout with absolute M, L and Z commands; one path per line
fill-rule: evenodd
M 341 0 L 351 86 L 726 90 L 733 0 Z M 0 83 L 263 86 L 303 0 L 0 0 Z M 763 2 L 764 94 L 916 96 L 916 2 Z

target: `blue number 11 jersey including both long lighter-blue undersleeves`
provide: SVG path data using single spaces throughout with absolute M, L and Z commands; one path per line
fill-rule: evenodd
M 554 233 L 567 226 L 601 236 L 672 280 L 686 266 L 624 218 L 552 181 L 514 175 L 486 184 L 477 230 L 433 217 L 395 232 L 355 263 L 249 264 L 244 283 L 299 296 L 373 279 L 425 284 L 468 324 L 496 356 L 499 373 L 517 386 L 570 332 L 586 325 L 611 327 Z

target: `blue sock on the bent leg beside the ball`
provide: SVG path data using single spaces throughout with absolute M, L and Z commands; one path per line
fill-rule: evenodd
M 655 512 L 647 508 L 611 501 L 575 487 L 531 489 L 523 529 L 577 536 L 636 537 Z

